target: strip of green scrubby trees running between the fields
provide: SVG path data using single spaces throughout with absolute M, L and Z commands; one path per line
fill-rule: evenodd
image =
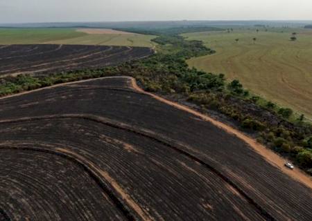
M 289 157 L 311 173 L 311 124 L 305 123 L 302 116 L 301 120 L 292 120 L 291 109 L 280 108 L 251 95 L 238 80 L 228 83 L 223 74 L 215 75 L 189 68 L 186 59 L 209 55 L 214 50 L 206 48 L 201 41 L 186 41 L 177 34 L 158 33 L 159 37 L 153 40 L 159 44 L 156 55 L 120 66 L 1 79 L 0 94 L 8 95 L 80 79 L 130 75 L 146 90 L 173 99 L 179 97 L 197 104 L 204 112 L 212 110 L 226 115 L 243 130 L 257 136 L 259 142 Z

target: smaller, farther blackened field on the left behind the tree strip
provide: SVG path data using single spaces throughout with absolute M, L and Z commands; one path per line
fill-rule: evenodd
M 25 73 L 101 68 L 153 54 L 150 48 L 79 45 L 0 46 L 0 77 Z

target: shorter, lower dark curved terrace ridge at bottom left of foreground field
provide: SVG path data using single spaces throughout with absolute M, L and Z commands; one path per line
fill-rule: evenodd
M 34 146 L 37 143 L 34 143 Z M 12 144 L 10 144 L 12 145 Z M 4 146 L 4 147 L 3 147 Z M 59 157 L 63 157 L 66 160 L 70 160 L 74 164 L 81 166 L 85 172 L 98 184 L 98 186 L 103 190 L 105 195 L 107 195 L 108 198 L 113 202 L 113 204 L 118 208 L 121 213 L 127 218 L 127 220 L 137 220 L 137 216 L 130 211 L 129 207 L 124 204 L 124 202 L 121 202 L 119 198 L 113 193 L 111 188 L 107 186 L 105 182 L 103 182 L 103 176 L 98 174 L 97 170 L 94 170 L 90 168 L 92 165 L 88 165 L 89 163 L 83 162 L 81 158 L 83 157 L 77 157 L 77 154 L 75 153 L 74 155 L 67 152 L 66 150 L 62 150 L 60 148 L 57 148 L 56 150 L 52 149 L 47 149 L 47 148 L 36 148 L 36 147 L 18 147 L 18 146 L 7 146 L 7 144 L 4 144 L 3 146 L 0 146 L 1 149 L 6 149 L 6 150 L 19 150 L 19 151 L 37 151 L 41 153 L 51 153 L 53 155 L 57 155 Z M 94 167 L 94 166 L 92 166 Z M 107 180 L 108 183 L 110 183 Z M 0 214 L 1 214 L 1 209 L 0 209 Z M 3 214 L 6 215 L 6 213 L 3 211 Z M 8 217 L 8 215 L 6 215 Z

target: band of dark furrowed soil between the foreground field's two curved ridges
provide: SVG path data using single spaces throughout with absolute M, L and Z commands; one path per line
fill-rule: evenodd
M 29 130 L 21 130 L 23 125 Z M 35 125 L 47 127 L 37 128 Z M 83 155 L 88 162 L 107 171 L 125 193 L 155 220 L 242 220 L 244 215 L 249 220 L 263 220 L 243 196 L 234 193 L 227 183 L 205 166 L 146 137 L 85 119 L 48 119 L 1 125 L 0 128 L 2 126 L 11 128 L 10 131 L 16 128 L 19 134 L 18 145 L 14 136 L 3 142 L 10 140 L 17 146 L 31 147 L 33 144 L 28 142 L 35 142 L 36 147 L 57 146 Z M 57 129 L 53 133 L 48 132 L 49 138 L 45 139 L 46 131 L 55 126 Z M 64 137 L 62 131 L 69 128 L 73 133 Z M 82 137 L 78 138 L 80 135 Z M 56 140 L 60 142 L 55 143 Z M 190 167 L 180 164 L 177 159 Z M 223 212 L 225 208 L 227 211 Z M 225 214 L 231 218 L 227 219 Z

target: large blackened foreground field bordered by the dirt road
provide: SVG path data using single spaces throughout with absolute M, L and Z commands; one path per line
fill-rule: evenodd
M 0 220 L 312 219 L 311 186 L 130 77 L 0 99 L 0 155 Z

